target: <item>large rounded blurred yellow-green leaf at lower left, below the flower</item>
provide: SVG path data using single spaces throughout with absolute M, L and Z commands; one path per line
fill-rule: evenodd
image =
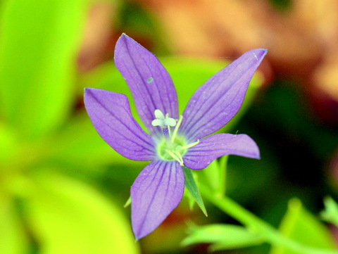
M 39 253 L 138 253 L 130 222 L 91 186 L 53 174 L 32 177 L 27 220 Z

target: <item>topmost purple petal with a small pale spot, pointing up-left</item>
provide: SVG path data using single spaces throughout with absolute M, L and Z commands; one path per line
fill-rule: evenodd
M 151 125 L 159 109 L 178 118 L 177 94 L 170 75 L 156 56 L 125 34 L 115 46 L 115 65 L 132 91 L 140 118 L 151 134 L 161 132 Z

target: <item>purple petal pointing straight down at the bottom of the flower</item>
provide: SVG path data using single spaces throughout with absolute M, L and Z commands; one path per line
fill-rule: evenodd
M 180 203 L 184 174 L 177 161 L 156 160 L 135 179 L 132 197 L 132 231 L 136 239 L 150 234 Z

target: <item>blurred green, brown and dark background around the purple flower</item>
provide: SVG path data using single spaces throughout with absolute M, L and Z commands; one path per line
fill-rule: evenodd
M 181 112 L 227 63 L 268 49 L 228 127 L 249 134 L 261 160 L 230 156 L 227 195 L 275 227 L 291 198 L 318 215 L 325 196 L 338 198 L 337 13 L 337 0 L 2 0 L 0 253 L 207 253 L 207 244 L 180 245 L 187 223 L 236 223 L 183 199 L 134 242 L 123 204 L 146 163 L 105 144 L 82 100 L 84 87 L 130 96 L 113 65 L 123 32 L 168 69 Z

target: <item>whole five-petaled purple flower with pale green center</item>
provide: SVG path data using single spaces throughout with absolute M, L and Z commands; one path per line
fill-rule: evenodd
M 125 34 L 118 39 L 115 65 L 150 134 L 132 118 L 124 94 L 86 88 L 84 103 L 96 131 L 115 151 L 131 160 L 151 161 L 130 189 L 136 239 L 154 231 L 180 203 L 183 165 L 201 170 L 227 154 L 259 158 L 258 146 L 245 134 L 208 135 L 229 122 L 242 106 L 265 53 L 265 49 L 248 51 L 213 75 L 180 116 L 175 87 L 156 56 Z

